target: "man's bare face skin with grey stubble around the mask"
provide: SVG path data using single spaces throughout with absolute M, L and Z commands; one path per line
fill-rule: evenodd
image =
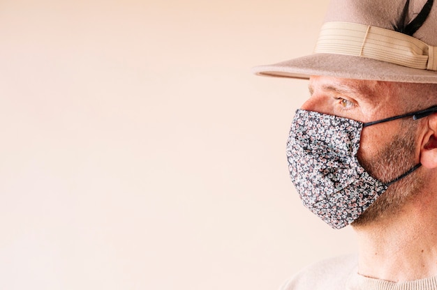
M 356 121 L 376 121 L 411 111 L 409 104 L 395 93 L 394 83 L 311 77 L 309 90 L 311 97 L 302 109 Z M 417 122 L 400 119 L 364 128 L 358 151 L 364 169 L 380 181 L 389 182 L 417 165 Z M 390 185 L 354 224 L 366 224 L 382 214 L 395 213 L 422 184 L 420 174 L 415 172 Z

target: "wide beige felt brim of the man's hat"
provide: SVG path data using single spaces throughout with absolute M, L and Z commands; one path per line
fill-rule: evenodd
M 408 68 L 343 54 L 311 54 L 272 65 L 256 66 L 252 71 L 256 75 L 297 79 L 309 79 L 311 75 L 325 75 L 347 79 L 437 84 L 436 71 Z

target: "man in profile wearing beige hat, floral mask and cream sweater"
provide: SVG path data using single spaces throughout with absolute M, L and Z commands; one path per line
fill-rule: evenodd
M 437 3 L 333 0 L 314 54 L 254 71 L 309 79 L 290 176 L 359 241 L 282 289 L 437 289 Z

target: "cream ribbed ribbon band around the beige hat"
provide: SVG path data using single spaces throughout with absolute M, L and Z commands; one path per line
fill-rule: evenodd
M 437 47 L 397 31 L 350 22 L 323 24 L 314 53 L 361 56 L 409 68 L 437 70 Z

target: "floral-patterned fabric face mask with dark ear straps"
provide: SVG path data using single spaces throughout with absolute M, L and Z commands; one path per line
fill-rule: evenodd
M 437 112 L 437 106 L 419 112 L 362 123 L 298 109 L 287 142 L 292 183 L 310 211 L 334 229 L 357 219 L 388 186 L 420 167 L 420 163 L 393 181 L 373 178 L 357 160 L 362 129 L 369 125 Z

